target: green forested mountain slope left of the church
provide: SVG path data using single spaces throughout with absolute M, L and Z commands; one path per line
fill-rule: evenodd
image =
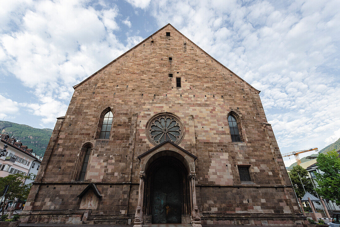
M 22 145 L 28 146 L 33 149 L 33 153 L 44 155 L 48 142 L 52 135 L 50 128 L 33 128 L 24 124 L 17 124 L 9 121 L 0 121 L 0 132 L 8 133 L 19 139 Z M 19 137 L 19 138 L 18 138 Z

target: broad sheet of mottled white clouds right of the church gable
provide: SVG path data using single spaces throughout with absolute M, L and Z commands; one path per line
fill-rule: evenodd
M 150 10 L 159 27 L 170 22 L 262 90 L 284 153 L 321 149 L 340 136 L 340 81 L 333 75 L 339 71 L 340 2 L 286 4 L 155 1 Z

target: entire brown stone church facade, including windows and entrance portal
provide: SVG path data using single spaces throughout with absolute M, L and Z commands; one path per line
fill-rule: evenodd
M 259 91 L 170 24 L 74 86 L 21 221 L 306 223 Z

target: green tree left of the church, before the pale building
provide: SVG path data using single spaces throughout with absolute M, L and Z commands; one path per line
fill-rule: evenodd
M 25 200 L 31 190 L 32 184 L 23 184 L 24 180 L 32 180 L 31 176 L 25 176 L 23 173 L 11 174 L 0 178 L 0 192 L 2 193 L 5 186 L 9 185 L 4 201 L 14 200 L 15 198 Z M 2 195 L 1 195 L 2 197 Z M 2 205 L 2 214 L 5 210 L 5 202 Z

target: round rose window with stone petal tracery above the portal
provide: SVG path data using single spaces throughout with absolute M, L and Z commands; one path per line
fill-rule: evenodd
M 148 121 L 146 126 L 147 137 L 154 145 L 165 141 L 179 144 L 184 137 L 184 132 L 183 122 L 172 113 L 158 113 Z

